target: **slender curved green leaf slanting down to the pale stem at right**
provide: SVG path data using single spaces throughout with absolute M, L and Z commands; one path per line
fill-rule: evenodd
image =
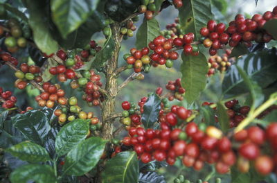
M 244 70 L 242 70 L 242 68 L 237 66 L 237 69 L 240 75 L 242 76 L 244 83 L 249 88 L 252 101 L 251 108 L 255 109 L 264 101 L 265 96 L 262 94 L 262 88 L 257 84 L 257 82 L 250 80 L 250 78 L 247 76 L 247 73 Z

